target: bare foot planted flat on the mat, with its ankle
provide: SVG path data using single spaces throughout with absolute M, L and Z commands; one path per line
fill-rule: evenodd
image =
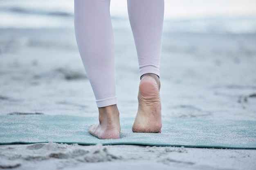
M 99 123 L 89 127 L 89 133 L 99 139 L 119 139 L 120 131 L 117 105 L 99 108 Z

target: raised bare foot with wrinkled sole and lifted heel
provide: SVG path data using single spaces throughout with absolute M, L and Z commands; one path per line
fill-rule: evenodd
M 133 132 L 161 133 L 160 81 L 155 74 L 141 77 L 138 94 L 138 112 L 132 126 Z

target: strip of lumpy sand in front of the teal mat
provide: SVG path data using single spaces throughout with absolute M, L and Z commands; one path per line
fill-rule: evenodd
M 2 156 L 5 155 L 5 156 Z M 1 168 L 254 169 L 254 150 L 157 146 L 29 144 L 1 146 Z

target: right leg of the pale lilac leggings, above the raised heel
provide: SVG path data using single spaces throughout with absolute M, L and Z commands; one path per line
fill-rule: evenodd
M 164 0 L 127 0 L 128 14 L 139 60 L 140 76 L 159 76 Z

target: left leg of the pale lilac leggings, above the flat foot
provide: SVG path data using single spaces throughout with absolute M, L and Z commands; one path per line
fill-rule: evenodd
M 97 107 L 117 104 L 114 37 L 110 0 L 75 0 L 74 25 L 79 52 Z

